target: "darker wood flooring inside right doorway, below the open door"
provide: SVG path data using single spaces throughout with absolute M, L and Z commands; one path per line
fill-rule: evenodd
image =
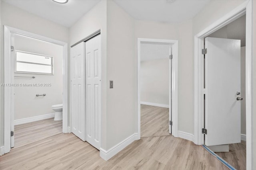
M 229 152 L 216 152 L 237 170 L 246 170 L 246 141 L 229 145 Z

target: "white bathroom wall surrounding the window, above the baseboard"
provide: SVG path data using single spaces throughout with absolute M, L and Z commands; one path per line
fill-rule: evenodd
M 14 88 L 14 120 L 24 119 L 39 115 L 54 113 L 52 105 L 62 104 L 63 92 L 63 46 L 24 37 L 14 36 L 15 50 L 30 53 L 52 56 L 54 60 L 54 75 L 43 74 L 21 74 L 15 73 L 14 76 L 35 76 L 36 78 L 15 77 L 14 83 L 32 84 L 49 83 L 46 87 L 22 87 Z M 38 96 L 36 94 L 46 94 Z

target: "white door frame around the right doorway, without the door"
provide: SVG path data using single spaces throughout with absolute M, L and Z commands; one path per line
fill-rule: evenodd
M 194 37 L 194 143 L 204 144 L 204 37 L 246 14 L 246 168 L 252 169 L 252 1 L 212 23 Z

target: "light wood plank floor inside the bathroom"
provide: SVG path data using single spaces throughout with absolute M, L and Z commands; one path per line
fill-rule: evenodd
M 14 126 L 14 148 L 62 133 L 62 120 L 54 118 Z

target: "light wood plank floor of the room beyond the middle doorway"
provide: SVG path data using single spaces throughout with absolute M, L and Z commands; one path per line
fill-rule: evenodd
M 170 136 L 169 108 L 140 105 L 140 136 Z

